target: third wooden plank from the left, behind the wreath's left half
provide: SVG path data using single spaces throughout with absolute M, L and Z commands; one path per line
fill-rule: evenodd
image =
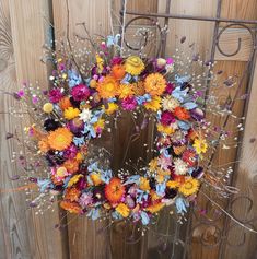
M 85 23 L 90 34 L 107 35 L 109 26 L 109 1 L 54 0 L 55 37 L 65 40 L 69 27 L 69 38 L 73 45 L 77 36 L 86 37 L 83 27 L 78 23 Z M 69 14 L 69 21 L 68 21 Z M 69 24 L 69 26 L 67 26 Z M 58 47 L 58 44 L 57 44 Z M 105 140 L 104 140 L 105 141 Z M 107 141 L 109 145 L 109 141 Z M 71 259 L 107 259 L 110 258 L 109 233 L 105 222 L 92 222 L 86 216 L 68 214 L 69 256 Z

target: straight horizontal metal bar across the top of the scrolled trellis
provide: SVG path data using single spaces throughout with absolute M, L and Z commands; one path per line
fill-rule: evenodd
M 185 15 L 185 14 L 142 13 L 142 12 L 136 12 L 136 11 L 127 11 L 126 14 L 140 15 L 140 16 L 151 16 L 151 17 L 167 17 L 167 19 L 179 19 L 179 20 L 196 20 L 196 21 L 203 21 L 203 22 L 225 22 L 225 23 L 257 24 L 257 20 L 209 17 L 209 16 Z

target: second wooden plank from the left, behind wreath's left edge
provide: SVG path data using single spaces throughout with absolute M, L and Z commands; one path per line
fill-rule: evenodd
M 49 25 L 45 20 L 49 20 L 49 3 L 47 0 L 38 1 L 9 1 L 10 16 L 11 16 L 11 31 L 14 51 L 14 63 L 16 69 L 16 86 L 20 89 L 21 83 L 26 80 L 35 84 L 39 83 L 42 89 L 48 87 L 47 68 L 40 62 L 43 55 L 43 45 L 46 43 Z M 8 85 L 5 85 L 8 87 Z M 15 91 L 15 89 L 13 89 Z M 7 110 L 8 106 L 5 106 Z M 23 121 L 25 122 L 25 121 Z M 20 122 L 13 123 L 11 131 L 14 127 L 21 125 Z M 20 129 L 22 130 L 22 129 Z M 13 168 L 13 174 L 17 174 Z M 5 178 L 5 183 L 8 183 Z M 13 193 L 12 196 L 16 196 Z M 42 216 L 28 212 L 27 216 L 24 214 L 27 204 L 23 201 L 14 203 L 14 210 L 10 220 L 14 221 L 15 212 L 21 213 L 19 220 L 25 221 L 27 229 L 24 231 L 21 237 L 30 237 L 30 247 L 24 247 L 24 256 L 21 258 L 67 258 L 67 244 L 65 244 L 65 235 L 55 228 L 55 224 L 59 222 L 59 211 L 55 208 L 55 212 L 47 212 Z M 12 236 L 12 233 L 10 233 Z M 15 242 L 20 239 L 14 240 Z M 19 250 L 15 249 L 15 252 Z M 12 258 L 17 258 L 13 256 Z

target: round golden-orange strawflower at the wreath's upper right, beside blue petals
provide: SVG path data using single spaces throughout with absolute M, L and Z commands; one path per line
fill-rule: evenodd
M 145 92 L 151 95 L 161 95 L 166 87 L 166 80 L 161 73 L 151 73 L 144 80 Z

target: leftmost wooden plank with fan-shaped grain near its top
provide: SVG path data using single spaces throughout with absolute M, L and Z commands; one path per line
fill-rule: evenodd
M 3 0 L 0 2 L 0 91 L 16 90 L 9 1 Z M 3 192 L 5 189 L 16 187 L 11 177 L 21 173 L 11 163 L 12 152 L 16 151 L 16 146 L 5 140 L 7 132 L 12 132 L 14 125 L 19 125 L 17 119 L 8 115 L 8 109 L 13 103 L 14 99 L 11 96 L 0 93 L 0 258 L 28 259 L 32 258 L 28 221 L 22 220 L 26 208 L 25 193 Z

